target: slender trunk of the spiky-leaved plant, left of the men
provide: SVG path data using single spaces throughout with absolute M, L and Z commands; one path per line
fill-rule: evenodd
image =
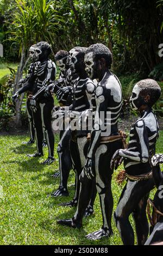
M 17 74 L 15 77 L 15 87 L 14 87 L 14 93 L 17 92 L 18 88 L 18 82 L 20 81 L 20 79 L 23 76 L 23 69 L 24 69 L 24 60 L 26 58 L 26 50 L 24 48 L 24 45 L 22 47 L 22 54 L 21 54 L 21 61 L 20 61 L 20 65 L 17 68 Z M 22 101 L 23 101 L 23 97 L 24 97 L 24 93 L 20 96 L 20 98 L 18 99 L 18 101 L 16 102 L 16 106 L 15 106 L 15 124 L 17 127 L 22 126 L 22 121 L 21 121 L 21 106 L 22 106 Z

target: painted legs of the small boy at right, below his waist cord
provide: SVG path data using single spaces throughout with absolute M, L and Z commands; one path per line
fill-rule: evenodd
M 117 209 L 114 213 L 114 220 L 124 245 L 134 245 L 134 231 L 129 222 L 129 216 L 132 212 L 134 212 L 137 240 L 139 243 L 142 243 L 145 240 L 145 237 L 142 239 L 143 234 L 146 236 L 147 233 L 147 222 L 146 217 L 144 217 L 145 212 L 142 208 L 141 214 L 145 220 L 145 226 L 143 226 L 143 228 L 145 227 L 145 230 L 142 231 L 143 224 L 140 224 L 140 220 L 138 220 L 140 214 L 140 210 L 138 211 L 138 209 L 142 198 L 146 197 L 146 194 L 153 188 L 153 186 L 153 179 L 150 178 L 149 180 L 142 181 L 128 180 L 126 186 L 123 188 Z M 146 199 L 144 200 L 146 202 Z

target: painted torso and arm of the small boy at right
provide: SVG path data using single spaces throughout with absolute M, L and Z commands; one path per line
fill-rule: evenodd
M 143 171 L 148 173 L 151 169 L 149 156 L 155 153 L 158 131 L 158 121 L 151 109 L 142 112 L 141 117 L 131 127 L 128 149 L 120 149 L 114 155 L 124 157 L 124 168 L 129 175 L 139 175 Z

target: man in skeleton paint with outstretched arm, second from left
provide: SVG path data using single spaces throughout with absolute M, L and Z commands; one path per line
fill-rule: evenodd
M 28 81 L 24 87 L 18 90 L 17 94 L 32 90 L 33 97 L 30 100 L 30 107 L 33 112 L 35 139 L 37 145 L 37 153 L 28 155 L 29 157 L 42 156 L 42 141 L 43 132 L 46 136 L 48 145 L 48 159 L 43 164 L 54 162 L 54 136 L 51 127 L 51 112 L 54 105 L 53 97 L 41 95 L 37 99 L 36 95 L 40 88 L 43 86 L 45 80 L 54 80 L 56 75 L 56 67 L 52 60 L 48 59 L 51 53 L 51 46 L 44 41 L 38 42 L 34 48 L 34 67 L 33 72 L 30 74 Z M 37 99 L 37 101 L 36 101 Z

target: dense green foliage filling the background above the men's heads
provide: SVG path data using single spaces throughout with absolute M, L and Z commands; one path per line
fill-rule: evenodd
M 4 42 L 5 53 L 11 39 L 19 45 L 23 40 L 27 48 L 47 40 L 54 52 L 102 42 L 113 53 L 114 69 L 122 73 L 147 76 L 161 62 L 162 0 L 7 1 L 0 1 L 0 41 L 10 39 L 8 46 Z M 16 46 L 11 55 L 21 50 Z

